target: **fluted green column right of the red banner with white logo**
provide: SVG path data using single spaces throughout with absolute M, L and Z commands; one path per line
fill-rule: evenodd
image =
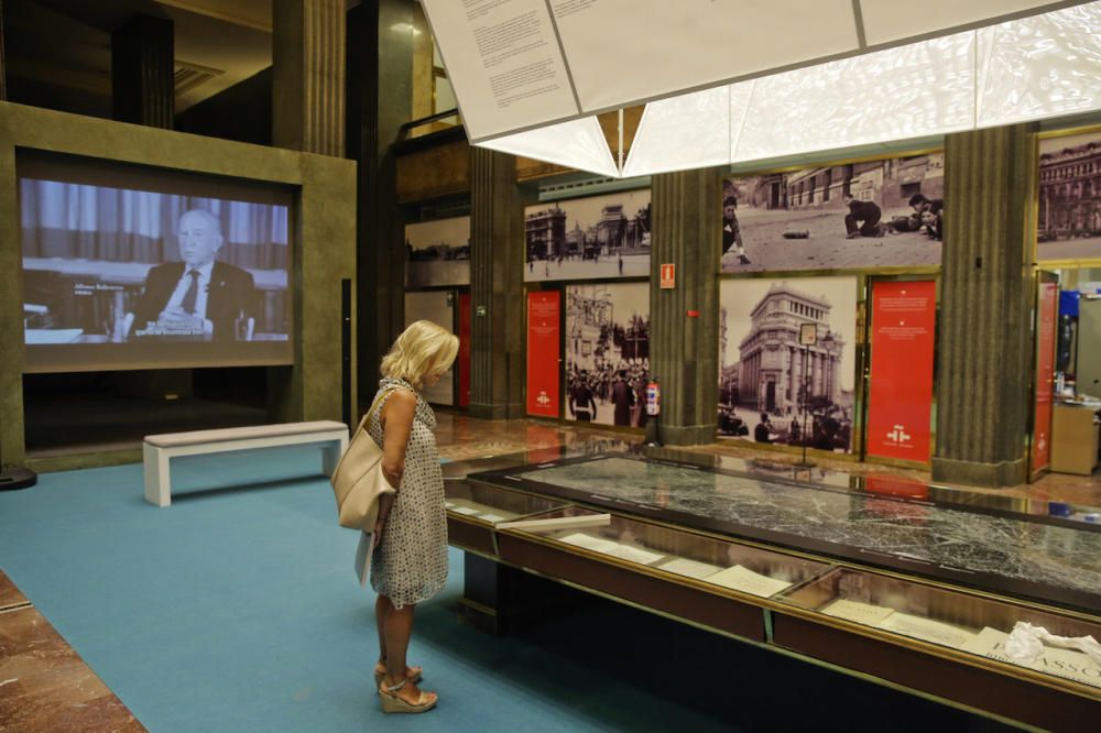
M 935 481 L 1026 479 L 1033 359 L 1035 127 L 945 141 Z

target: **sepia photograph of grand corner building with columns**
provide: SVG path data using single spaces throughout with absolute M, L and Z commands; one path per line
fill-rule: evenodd
M 724 280 L 719 298 L 719 435 L 850 452 L 857 278 Z

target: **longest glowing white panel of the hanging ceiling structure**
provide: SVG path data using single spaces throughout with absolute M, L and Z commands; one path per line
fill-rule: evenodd
M 974 53 L 967 32 L 755 79 L 732 162 L 971 129 Z

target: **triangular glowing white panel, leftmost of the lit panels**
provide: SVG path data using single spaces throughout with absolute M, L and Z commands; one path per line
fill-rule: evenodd
M 475 144 L 603 176 L 618 177 L 620 174 L 596 117 L 550 124 Z

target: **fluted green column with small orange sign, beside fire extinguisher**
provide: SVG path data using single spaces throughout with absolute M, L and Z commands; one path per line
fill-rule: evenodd
M 719 391 L 721 171 L 656 175 L 652 192 L 650 370 L 662 385 L 658 437 L 669 445 L 712 442 Z M 658 286 L 663 263 L 676 265 L 672 289 Z

